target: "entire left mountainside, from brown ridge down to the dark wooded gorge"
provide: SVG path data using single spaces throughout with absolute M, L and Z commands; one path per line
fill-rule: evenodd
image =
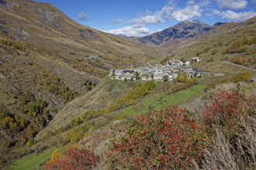
M 50 4 L 0 0 L 0 142 L 6 141 L 0 167 L 71 100 L 99 86 L 109 69 L 140 66 L 160 55 L 81 26 Z

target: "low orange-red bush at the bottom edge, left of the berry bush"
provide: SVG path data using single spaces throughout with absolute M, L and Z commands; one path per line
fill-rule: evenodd
M 67 148 L 61 158 L 48 162 L 43 169 L 90 169 L 99 162 L 91 151 Z

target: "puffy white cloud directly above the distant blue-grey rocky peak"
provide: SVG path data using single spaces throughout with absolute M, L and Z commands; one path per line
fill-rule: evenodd
M 177 21 L 184 21 L 187 19 L 192 19 L 195 16 L 201 16 L 201 11 L 199 9 L 199 5 L 197 5 L 193 1 L 187 2 L 185 8 L 175 9 L 171 14 L 171 18 Z

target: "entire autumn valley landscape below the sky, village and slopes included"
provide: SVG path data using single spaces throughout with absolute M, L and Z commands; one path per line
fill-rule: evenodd
M 0 168 L 65 168 L 61 165 L 64 159 L 73 160 L 71 152 L 85 154 L 84 159 L 90 161 L 83 162 L 83 166 L 94 169 L 119 165 L 125 169 L 149 168 L 148 165 L 177 168 L 173 158 L 167 161 L 162 157 L 164 150 L 147 150 L 160 143 L 163 147 L 168 146 L 165 143 L 184 145 L 188 152 L 181 151 L 192 155 L 195 163 L 186 154 L 174 154 L 176 161 L 189 160 L 178 164 L 189 168 L 200 164 L 202 168 L 206 167 L 201 164 L 202 153 L 209 149 L 206 145 L 216 147 L 210 138 L 219 135 L 218 128 L 223 133 L 235 131 L 242 135 L 255 121 L 255 16 L 213 26 L 197 19 L 185 20 L 135 37 L 83 26 L 49 3 L 2 0 L 0 15 Z M 216 123 L 211 102 L 221 98 L 222 90 L 227 97 L 220 105 L 232 99 L 237 107 L 230 100 L 231 105 L 217 106 L 216 110 L 223 112 L 216 111 L 216 115 L 227 117 L 215 117 L 219 120 Z M 173 140 L 169 138 L 167 134 L 174 129 L 167 117 L 175 117 L 173 113 L 185 120 L 176 124 L 179 128 L 175 136 L 190 133 L 185 129 L 200 135 L 188 134 L 189 141 L 181 137 L 185 143 L 175 136 Z M 238 114 L 246 123 L 234 116 Z M 214 123 L 207 117 L 213 117 Z M 239 127 L 232 125 L 236 121 Z M 170 129 L 165 127 L 167 124 Z M 201 129 L 189 124 L 199 124 Z M 166 129 L 159 128 L 163 126 Z M 163 138 L 158 138 L 160 134 Z M 232 146 L 235 143 L 230 138 L 245 140 L 238 134 L 225 135 Z M 141 138 L 147 138 L 149 143 Z M 126 142 L 130 142 L 129 149 L 121 147 Z M 202 148 L 198 146 L 200 142 Z M 195 145 L 199 154 L 186 148 L 189 145 Z M 134 151 L 140 153 L 137 161 Z M 144 151 L 148 155 L 142 154 Z M 250 156 L 247 160 L 251 160 Z M 116 158 L 120 158 L 119 163 Z M 170 166 L 163 163 L 172 161 Z M 91 165 L 92 162 L 95 163 Z

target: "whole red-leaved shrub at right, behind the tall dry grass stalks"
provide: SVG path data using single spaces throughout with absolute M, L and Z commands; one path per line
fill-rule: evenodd
M 235 147 L 240 132 L 240 116 L 247 114 L 244 93 L 235 90 L 218 90 L 207 99 L 206 109 L 202 111 L 202 121 L 206 124 L 209 136 L 216 136 L 216 129 Z

